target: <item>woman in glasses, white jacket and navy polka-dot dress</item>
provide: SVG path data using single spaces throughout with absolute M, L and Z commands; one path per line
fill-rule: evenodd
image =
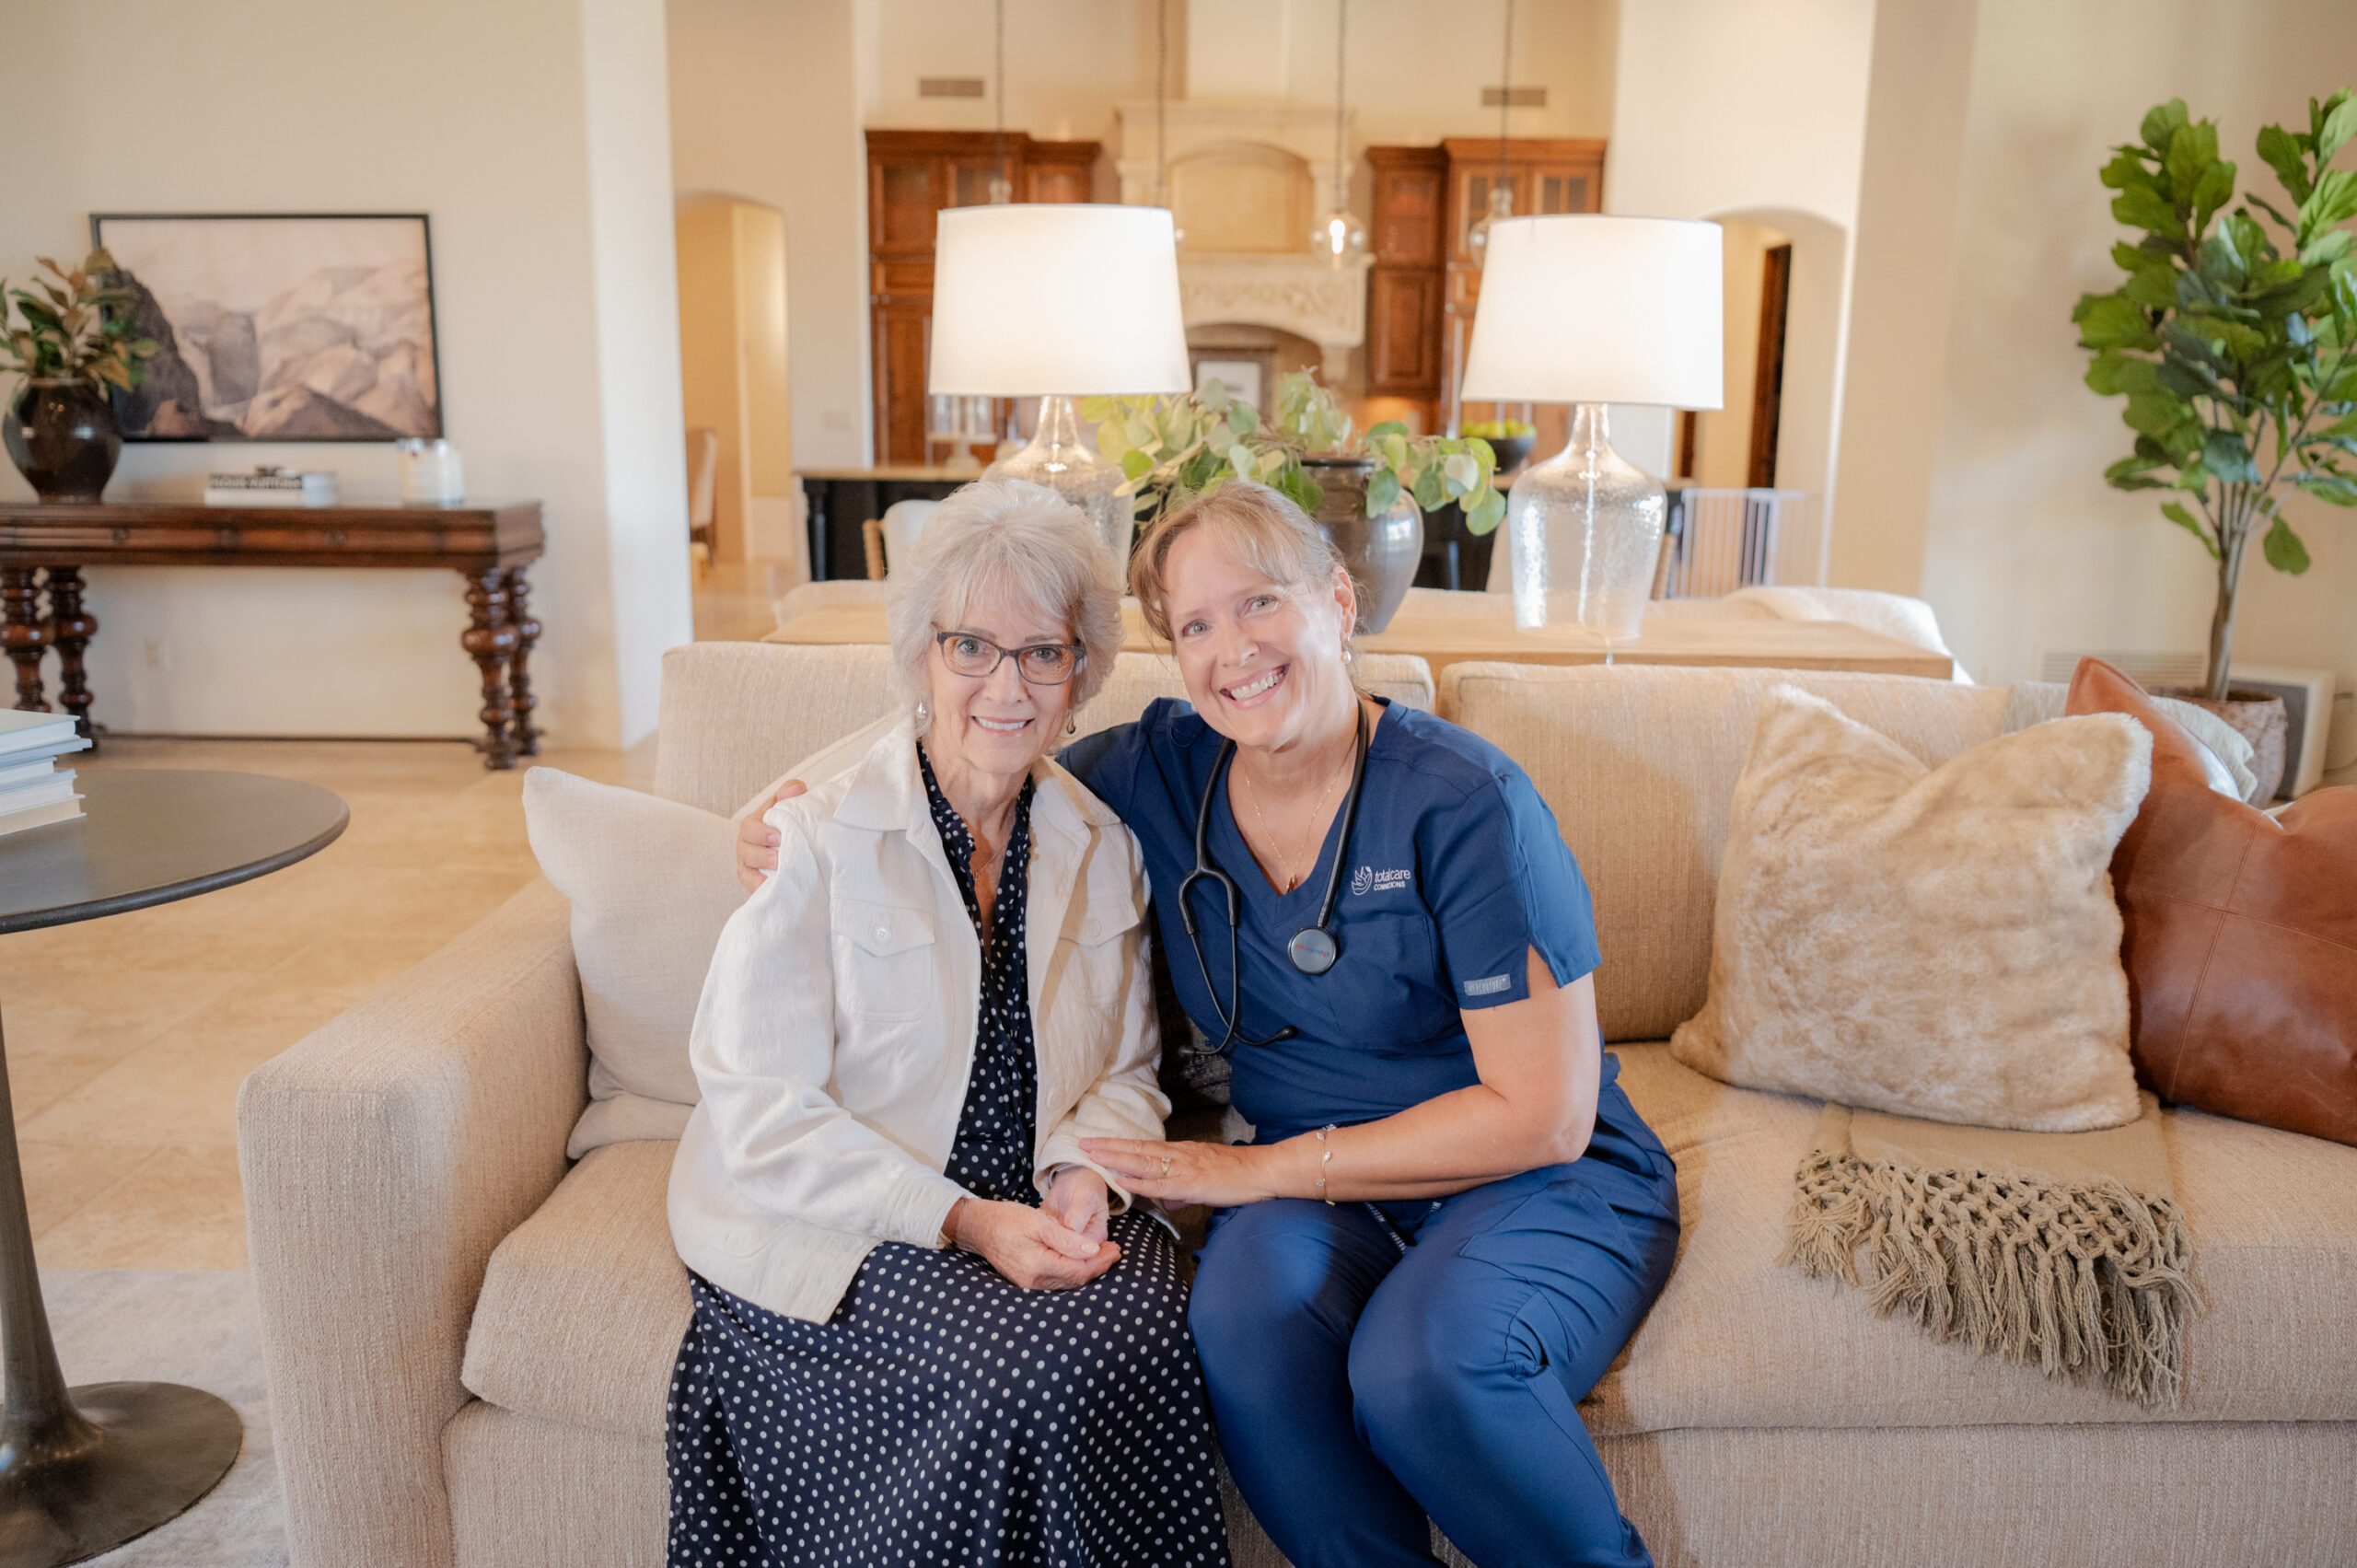
M 969 486 L 891 634 L 915 703 L 768 813 L 695 1014 L 669 1561 L 1226 1563 L 1171 1240 L 1082 1148 L 1169 1111 L 1136 839 L 1047 759 L 1120 651 L 1108 561 Z

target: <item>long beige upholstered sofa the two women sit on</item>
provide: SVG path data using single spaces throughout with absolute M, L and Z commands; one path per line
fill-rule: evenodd
M 1676 1276 L 1584 1412 L 1664 1566 L 2357 1561 L 2357 1148 L 2171 1113 L 2206 1316 L 2150 1415 L 1879 1320 L 1775 1266 L 1815 1101 L 1659 1045 L 1704 993 L 1758 670 L 1369 660 L 1530 769 L 1586 868 L 1598 1004 L 1678 1158 Z M 2006 691 L 1798 684 L 1940 762 Z M 1171 677 L 1124 655 L 1098 722 Z M 665 667 L 658 792 L 735 809 L 882 696 L 865 648 L 707 644 Z M 686 1280 L 669 1144 L 566 1167 L 585 1101 L 566 905 L 533 884 L 262 1066 L 238 1141 L 295 1563 L 660 1563 Z M 1230 1495 L 1237 1561 L 1277 1554 Z

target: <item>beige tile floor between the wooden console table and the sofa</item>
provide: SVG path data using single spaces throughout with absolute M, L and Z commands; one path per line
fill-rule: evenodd
M 646 788 L 653 745 L 542 762 Z M 0 1028 L 45 1269 L 243 1269 L 238 1082 L 537 875 L 523 773 L 457 743 L 108 740 L 97 769 L 306 778 L 351 828 L 184 903 L 0 936 Z

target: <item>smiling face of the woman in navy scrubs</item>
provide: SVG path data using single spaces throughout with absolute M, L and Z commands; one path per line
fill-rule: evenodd
M 1214 526 L 1164 564 L 1171 648 L 1204 724 L 1242 747 L 1282 750 L 1355 700 L 1341 644 L 1358 618 L 1351 575 L 1270 582 Z

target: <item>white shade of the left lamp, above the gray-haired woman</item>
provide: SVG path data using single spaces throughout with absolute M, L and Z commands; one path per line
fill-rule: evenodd
M 1186 391 L 1169 207 L 950 207 L 933 241 L 933 368 L 952 396 Z

